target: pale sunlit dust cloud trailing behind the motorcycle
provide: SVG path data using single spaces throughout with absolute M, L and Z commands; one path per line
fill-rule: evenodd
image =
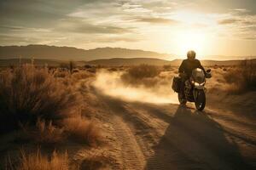
M 96 74 L 96 81 L 93 82 L 93 85 L 98 90 L 101 90 L 102 94 L 126 101 L 154 104 L 178 103 L 177 94 L 172 91 L 171 85 L 162 85 L 157 88 L 132 87 L 122 82 L 120 77 L 123 73 L 121 71 L 99 71 Z

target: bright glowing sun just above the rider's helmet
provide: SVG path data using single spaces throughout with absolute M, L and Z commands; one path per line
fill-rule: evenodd
M 179 31 L 176 37 L 179 54 L 186 54 L 189 50 L 195 50 L 196 54 L 204 54 L 206 47 L 206 35 L 197 31 Z

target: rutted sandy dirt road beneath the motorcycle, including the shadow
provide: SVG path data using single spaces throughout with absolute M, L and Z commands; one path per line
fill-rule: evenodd
M 113 169 L 256 168 L 256 123 L 247 117 L 90 91 L 108 117 Z

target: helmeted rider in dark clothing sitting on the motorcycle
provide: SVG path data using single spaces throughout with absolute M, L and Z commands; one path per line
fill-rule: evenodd
M 182 77 L 182 83 L 181 83 L 181 92 L 183 92 L 184 84 L 186 80 L 189 79 L 192 75 L 192 71 L 196 68 L 201 68 L 202 71 L 204 71 L 205 75 L 207 75 L 206 70 L 201 65 L 201 62 L 198 59 L 195 59 L 195 51 L 190 50 L 187 53 L 187 58 L 184 59 L 182 64 L 178 68 L 178 73 L 180 73 L 180 76 Z

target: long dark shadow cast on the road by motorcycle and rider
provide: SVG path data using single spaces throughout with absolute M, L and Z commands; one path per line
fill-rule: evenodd
M 224 133 L 218 122 L 207 114 L 192 112 L 178 106 L 154 156 L 148 158 L 146 169 L 251 169 L 243 161 L 235 141 Z

